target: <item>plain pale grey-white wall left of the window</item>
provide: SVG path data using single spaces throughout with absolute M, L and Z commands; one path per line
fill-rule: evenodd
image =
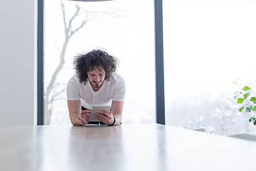
M 0 128 L 36 120 L 36 4 L 0 1 Z

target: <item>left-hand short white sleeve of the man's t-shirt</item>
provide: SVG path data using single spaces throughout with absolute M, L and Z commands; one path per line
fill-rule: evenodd
M 75 81 L 74 77 L 71 78 L 70 81 L 68 81 L 67 99 L 80 100 L 80 88 L 78 86 L 78 81 Z

